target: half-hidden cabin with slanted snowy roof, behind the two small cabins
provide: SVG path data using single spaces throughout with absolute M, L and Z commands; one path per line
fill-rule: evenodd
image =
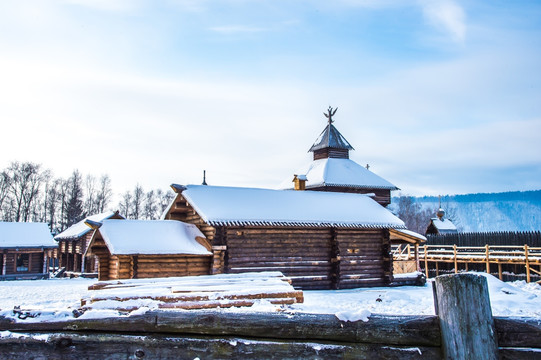
M 93 234 L 92 229 L 85 225 L 85 221 L 100 222 L 106 219 L 121 220 L 124 217 L 118 211 L 108 211 L 88 216 L 54 237 L 58 241 L 59 266 L 65 268 L 65 275 L 98 272 L 97 258 L 84 256 Z

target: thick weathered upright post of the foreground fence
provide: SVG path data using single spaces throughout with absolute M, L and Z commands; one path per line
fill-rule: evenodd
M 445 359 L 498 359 L 487 280 L 475 274 L 442 275 L 434 282 Z

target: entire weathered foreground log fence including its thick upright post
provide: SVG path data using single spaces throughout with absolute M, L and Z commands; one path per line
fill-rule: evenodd
M 367 322 L 343 321 L 333 314 L 253 313 L 209 310 L 148 311 L 101 319 L 36 322 L 33 313 L 0 316 L 0 357 L 7 359 L 441 359 L 453 358 L 460 340 L 472 358 L 492 352 L 500 359 L 532 359 L 541 351 L 538 319 L 492 317 L 486 279 L 460 274 L 456 281 L 436 279 L 438 315 L 371 315 Z M 472 292 L 463 278 L 484 282 L 484 295 Z M 445 281 L 444 281 L 445 280 Z M 449 289 L 449 282 L 467 291 Z M 471 282 L 470 282 L 471 283 Z M 475 283 L 473 284 L 475 285 Z M 456 286 L 456 285 L 455 285 Z M 475 289 L 473 289 L 475 290 Z M 481 301 L 483 300 L 483 301 Z M 450 304 L 450 305 L 449 305 Z M 485 305 L 482 305 L 485 304 Z M 480 310 L 481 306 L 485 306 Z M 478 312 L 487 319 L 492 349 L 477 342 Z M 448 325 L 452 325 L 449 328 Z M 453 328 L 460 330 L 452 330 Z M 449 331 L 451 329 L 451 331 Z M 471 332 L 471 333 L 470 333 Z M 466 348 L 466 347 L 465 347 Z M 460 349 L 459 349 L 460 350 Z

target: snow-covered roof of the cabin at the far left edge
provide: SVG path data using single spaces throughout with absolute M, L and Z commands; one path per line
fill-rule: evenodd
M 46 223 L 0 222 L 0 248 L 36 247 L 58 247 Z

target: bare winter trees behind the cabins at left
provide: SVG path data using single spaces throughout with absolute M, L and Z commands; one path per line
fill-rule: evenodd
M 174 193 L 145 191 L 136 185 L 120 195 L 118 206 L 111 204 L 112 198 L 111 179 L 106 174 L 96 177 L 74 170 L 63 179 L 41 164 L 17 161 L 0 171 L 0 220 L 45 222 L 52 233 L 113 208 L 128 219 L 155 220 Z

